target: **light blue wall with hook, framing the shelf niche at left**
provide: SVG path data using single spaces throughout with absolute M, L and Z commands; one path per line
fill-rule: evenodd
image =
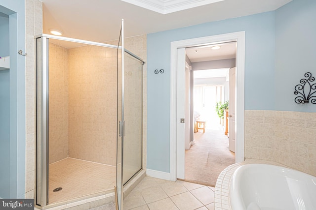
M 25 197 L 25 0 L 0 0 L 0 12 L 9 16 L 9 91 L 10 93 L 10 170 L 3 171 L 10 177 L 9 196 Z M 1 160 L 3 161 L 3 160 Z M 8 192 L 7 192 L 8 193 Z M 6 196 L 6 195 L 5 195 Z

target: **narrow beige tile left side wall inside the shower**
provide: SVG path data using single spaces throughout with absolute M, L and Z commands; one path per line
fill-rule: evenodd
M 48 161 L 68 157 L 68 49 L 49 43 Z

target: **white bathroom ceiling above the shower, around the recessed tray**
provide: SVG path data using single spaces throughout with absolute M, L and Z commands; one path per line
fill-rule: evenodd
M 272 11 L 290 1 L 223 0 L 160 14 L 122 0 L 42 0 L 43 33 L 58 29 L 65 37 L 105 42 L 118 39 L 122 18 L 125 37 L 130 37 Z

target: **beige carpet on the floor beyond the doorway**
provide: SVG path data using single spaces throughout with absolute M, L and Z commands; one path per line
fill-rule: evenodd
M 205 133 L 194 134 L 195 145 L 185 153 L 185 180 L 215 186 L 219 174 L 235 163 L 235 153 L 228 150 L 228 137 L 220 125 L 210 125 Z

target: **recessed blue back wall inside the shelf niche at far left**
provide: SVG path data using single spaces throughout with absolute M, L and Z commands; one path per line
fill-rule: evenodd
M 2 14 L 0 14 L 2 15 Z M 0 56 L 9 55 L 9 18 L 0 16 Z M 10 196 L 10 72 L 0 71 L 0 198 Z

